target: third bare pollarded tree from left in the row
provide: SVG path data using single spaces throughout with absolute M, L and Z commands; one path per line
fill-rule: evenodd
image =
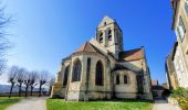
M 28 88 L 30 86 L 30 82 L 31 82 L 31 73 L 30 72 L 25 72 L 24 74 L 24 80 L 23 80 L 24 85 L 25 85 L 25 97 L 28 97 Z

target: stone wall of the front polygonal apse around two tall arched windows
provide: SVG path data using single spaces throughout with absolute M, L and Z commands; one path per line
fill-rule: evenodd
M 82 74 L 81 81 L 72 82 L 71 79 L 69 81 L 69 90 L 67 90 L 67 100 L 88 100 L 88 99 L 102 99 L 106 97 L 105 91 L 112 91 L 111 88 L 111 73 L 109 67 L 107 66 L 107 59 L 100 54 L 88 54 L 82 53 L 72 56 L 72 64 L 75 59 L 80 59 L 82 62 Z M 87 58 L 91 58 L 91 70 L 88 75 L 88 88 L 86 88 L 86 68 L 87 68 Z M 104 85 L 96 86 L 95 85 L 95 68 L 96 63 L 101 61 L 104 67 Z M 73 65 L 71 65 L 72 73 Z M 72 74 L 70 75 L 72 78 Z M 87 90 L 87 91 L 86 91 Z M 92 91 L 92 92 L 90 92 Z M 88 92 L 88 94 L 86 94 Z M 102 94 L 101 94 L 102 92 Z M 75 95 L 73 95 L 75 94 Z M 95 94 L 95 96 L 91 96 Z M 77 99 L 79 98 L 79 99 Z

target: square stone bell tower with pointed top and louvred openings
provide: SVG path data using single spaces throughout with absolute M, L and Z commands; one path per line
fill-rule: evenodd
M 123 51 L 123 33 L 116 21 L 104 16 L 96 29 L 96 41 L 104 46 L 114 57 L 118 58 Z

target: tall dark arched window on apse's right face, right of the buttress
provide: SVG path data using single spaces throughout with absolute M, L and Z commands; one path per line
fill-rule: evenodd
M 96 63 L 95 85 L 103 86 L 103 64 Z

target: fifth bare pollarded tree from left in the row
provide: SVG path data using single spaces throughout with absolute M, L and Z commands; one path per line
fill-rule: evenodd
M 49 75 L 48 70 L 42 70 L 39 75 L 39 97 L 41 97 L 42 86 L 48 81 Z

